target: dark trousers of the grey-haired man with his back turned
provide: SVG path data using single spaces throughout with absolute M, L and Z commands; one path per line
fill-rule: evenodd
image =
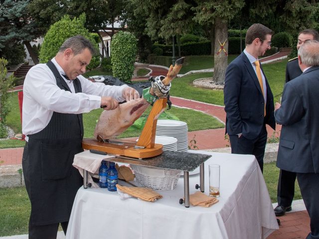
M 297 180 L 310 217 L 307 239 L 319 239 L 319 173 L 297 173 Z

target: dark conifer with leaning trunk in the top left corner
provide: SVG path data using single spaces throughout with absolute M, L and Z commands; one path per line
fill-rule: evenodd
M 0 1 L 0 51 L 6 47 L 13 47 L 23 43 L 33 62 L 38 63 L 30 41 L 41 35 L 35 22 L 30 17 L 27 6 L 29 0 L 1 0 Z

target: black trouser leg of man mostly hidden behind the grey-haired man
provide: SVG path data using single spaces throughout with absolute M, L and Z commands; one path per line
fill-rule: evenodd
M 280 170 L 277 188 L 277 201 L 279 206 L 291 206 L 295 196 L 295 181 L 297 173 Z

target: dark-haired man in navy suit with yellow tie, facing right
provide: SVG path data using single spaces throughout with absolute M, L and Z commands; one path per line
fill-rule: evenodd
M 261 171 L 267 142 L 266 123 L 274 129 L 276 123 L 274 97 L 258 56 L 270 49 L 272 34 L 271 29 L 259 23 L 248 28 L 245 50 L 227 67 L 224 85 L 226 133 L 231 152 L 255 155 Z

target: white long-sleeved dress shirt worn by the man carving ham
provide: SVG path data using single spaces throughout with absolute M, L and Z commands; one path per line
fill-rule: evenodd
M 61 75 L 64 70 L 52 59 Z M 77 77 L 81 82 L 82 93 L 75 93 L 73 81 L 65 80 L 71 92 L 61 90 L 56 85 L 55 76 L 46 64 L 37 64 L 27 73 L 23 84 L 22 133 L 24 135 L 41 131 L 49 123 L 53 112 L 65 114 L 88 113 L 101 106 L 101 96 L 111 96 L 122 102 L 123 86 L 107 86 L 94 83 L 83 76 Z M 26 141 L 28 138 L 26 137 Z

